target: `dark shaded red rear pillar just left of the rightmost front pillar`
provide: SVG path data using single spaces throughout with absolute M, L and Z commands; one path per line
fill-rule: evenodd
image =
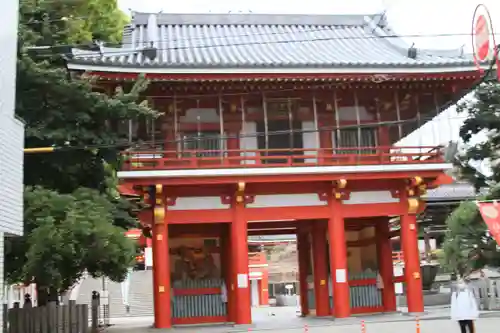
M 377 221 L 377 261 L 384 288 L 382 289 L 382 302 L 384 311 L 396 311 L 396 292 L 394 289 L 394 268 L 392 264 L 392 247 L 389 220 Z

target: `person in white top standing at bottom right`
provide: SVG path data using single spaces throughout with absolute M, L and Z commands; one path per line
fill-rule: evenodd
M 458 321 L 461 333 L 475 333 L 474 321 L 479 317 L 479 308 L 471 289 L 464 280 L 457 281 L 451 294 L 451 319 Z

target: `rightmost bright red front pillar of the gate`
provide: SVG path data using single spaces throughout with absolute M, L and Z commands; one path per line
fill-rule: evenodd
M 408 312 L 424 312 L 424 297 L 418 250 L 418 227 L 415 214 L 401 216 L 401 242 L 405 262 L 406 295 Z

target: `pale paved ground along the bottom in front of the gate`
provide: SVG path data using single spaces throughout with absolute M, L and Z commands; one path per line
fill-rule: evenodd
M 171 332 L 179 333 L 230 333 L 230 332 L 249 332 L 249 331 L 264 331 L 269 333 L 286 332 L 299 333 L 359 333 L 361 332 L 361 321 L 365 322 L 366 332 L 381 332 L 381 333 L 401 333 L 403 331 L 415 332 L 416 321 L 413 317 L 401 313 L 381 314 L 351 317 L 344 320 L 332 320 L 325 318 L 299 318 L 297 317 L 295 307 L 282 308 L 258 308 L 254 309 L 252 319 L 254 324 L 250 327 L 233 327 L 233 326 L 192 326 L 182 327 L 172 330 Z M 271 314 L 274 314 L 271 315 Z M 449 319 L 449 309 L 433 308 L 423 314 L 420 320 L 421 333 L 434 332 L 456 332 L 458 324 Z M 149 328 L 153 318 L 124 318 L 115 319 L 111 323 L 115 326 L 106 330 L 106 332 L 123 332 L 123 333 L 149 333 L 161 332 Z M 495 332 L 500 326 L 500 313 L 483 313 L 483 317 L 477 321 L 477 332 Z M 496 328 L 495 328 L 496 327 Z

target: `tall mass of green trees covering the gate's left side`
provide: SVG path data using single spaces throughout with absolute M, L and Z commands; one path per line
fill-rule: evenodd
M 141 207 L 116 191 L 124 143 L 116 125 L 156 113 L 141 102 L 144 79 L 108 96 L 93 90 L 92 78 L 68 75 L 60 55 L 29 55 L 34 45 L 118 41 L 123 14 L 116 12 L 116 0 L 21 4 L 16 113 L 26 122 L 25 144 L 67 147 L 26 155 L 25 235 L 5 244 L 8 282 L 37 283 L 42 305 L 85 271 L 116 281 L 125 277 L 135 249 L 124 231 L 138 226 Z

